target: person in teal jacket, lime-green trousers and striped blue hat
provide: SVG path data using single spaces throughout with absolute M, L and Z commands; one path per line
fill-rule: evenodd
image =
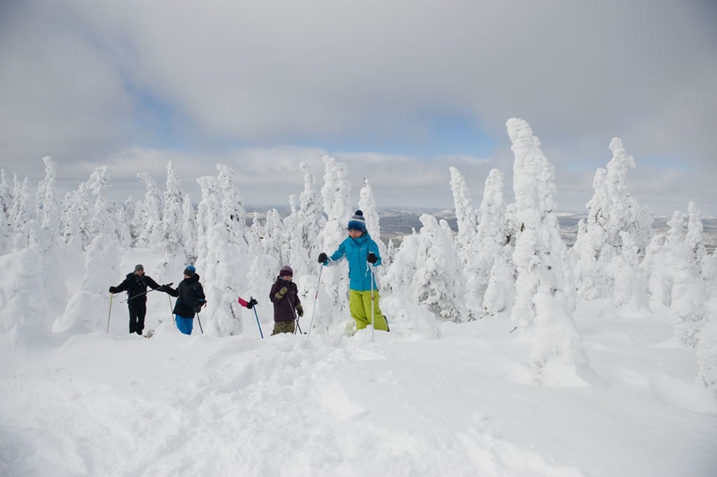
M 348 260 L 348 308 L 356 321 L 356 329 L 364 329 L 371 324 L 371 301 L 374 306 L 374 329 L 389 331 L 389 323 L 379 308 L 379 288 L 376 280 L 371 279 L 369 266 L 381 265 L 379 246 L 366 231 L 364 212 L 356 214 L 348 221 L 348 237 L 338 245 L 331 257 L 321 252 L 318 262 L 324 266 L 333 265 L 341 258 Z M 373 287 L 371 282 L 373 281 Z

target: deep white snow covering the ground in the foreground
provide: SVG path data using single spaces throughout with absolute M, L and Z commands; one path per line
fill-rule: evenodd
M 531 384 L 507 318 L 262 340 L 252 313 L 242 336 L 165 320 L 146 339 L 113 311 L 109 335 L 3 342 L 0 475 L 717 475 L 694 352 L 663 316 L 603 305 L 575 314 L 598 377 L 581 387 Z

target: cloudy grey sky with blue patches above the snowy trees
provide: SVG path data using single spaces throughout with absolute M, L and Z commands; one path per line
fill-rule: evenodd
M 110 166 L 113 197 L 184 189 L 223 163 L 248 204 L 288 204 L 328 154 L 379 208 L 452 207 L 456 166 L 480 205 L 507 176 L 508 118 L 582 210 L 622 138 L 632 195 L 717 214 L 713 0 L 1 1 L 0 165 L 75 188 Z

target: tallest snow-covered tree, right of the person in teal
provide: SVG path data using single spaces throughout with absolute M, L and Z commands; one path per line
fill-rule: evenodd
M 587 364 L 587 356 L 571 317 L 574 285 L 566 273 L 567 250 L 554 213 L 554 166 L 526 121 L 512 118 L 506 126 L 515 155 L 513 191 L 516 220 L 521 225 L 513 251 L 518 277 L 511 318 L 521 334 L 531 339 L 533 376 L 549 384 L 555 367 L 563 374 L 576 373 Z

